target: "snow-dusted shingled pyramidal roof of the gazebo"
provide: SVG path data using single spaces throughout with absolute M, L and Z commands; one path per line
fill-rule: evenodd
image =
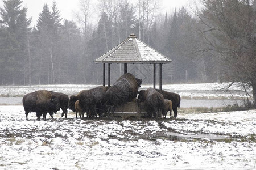
M 171 59 L 131 34 L 126 40 L 94 61 L 95 63 L 170 63 Z

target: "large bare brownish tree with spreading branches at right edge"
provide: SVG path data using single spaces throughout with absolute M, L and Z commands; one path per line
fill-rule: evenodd
M 221 80 L 253 89 L 256 101 L 256 11 L 248 0 L 202 0 L 200 19 L 204 49 L 220 59 Z

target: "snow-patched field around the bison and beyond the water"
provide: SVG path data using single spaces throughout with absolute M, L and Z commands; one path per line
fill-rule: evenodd
M 198 86 L 178 90 L 191 97 L 228 97 Z M 174 86 L 165 88 L 175 91 Z M 200 89 L 197 94 L 196 88 Z M 15 96 L 36 89 L 0 87 L 0 94 Z M 69 94 L 80 90 L 77 86 L 54 89 Z M 81 120 L 71 111 L 67 119 L 61 118 L 60 112 L 54 117 L 51 120 L 47 115 L 47 121 L 36 121 L 35 113 L 29 113 L 30 121 L 26 121 L 22 105 L 0 106 L 0 169 L 256 168 L 255 110 L 178 113 L 176 120 L 169 116 L 157 121 Z

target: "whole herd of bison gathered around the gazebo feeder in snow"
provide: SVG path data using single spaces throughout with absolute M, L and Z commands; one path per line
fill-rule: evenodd
M 68 96 L 61 92 L 47 90 L 38 90 L 24 95 L 23 107 L 28 120 L 29 112 L 36 112 L 36 117 L 40 120 L 46 120 L 46 114 L 49 113 L 53 118 L 53 113 L 63 111 L 61 117 L 67 118 L 68 109 L 79 113 L 80 118 L 104 117 L 109 116 L 110 109 L 114 112 L 115 108 L 133 101 L 137 95 L 140 102 L 146 105 L 147 116 L 152 118 L 165 117 L 167 112 L 174 111 L 174 117 L 177 117 L 177 108 L 180 107 L 180 95 L 164 90 L 155 90 L 148 88 L 140 90 L 142 80 L 135 78 L 133 74 L 122 75 L 112 86 L 99 86 L 89 90 L 82 90 L 77 95 Z

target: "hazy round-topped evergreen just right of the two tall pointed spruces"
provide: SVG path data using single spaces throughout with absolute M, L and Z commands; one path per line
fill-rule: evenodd
M 85 69 L 82 66 L 82 42 L 79 28 L 69 20 L 64 20 L 60 29 L 59 55 L 61 59 L 59 83 L 77 84 L 84 83 L 81 79 Z

